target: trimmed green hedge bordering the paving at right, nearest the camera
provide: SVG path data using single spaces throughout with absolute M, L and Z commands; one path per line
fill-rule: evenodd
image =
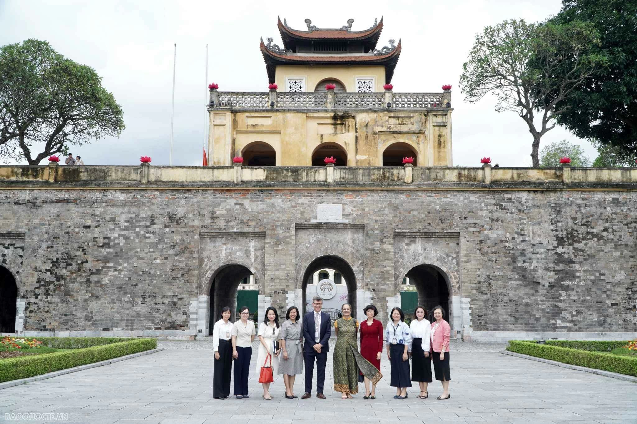
M 603 369 L 612 373 L 637 376 L 637 358 L 612 355 L 610 353 L 589 352 L 560 346 L 538 345 L 533 341 L 509 340 L 506 350 L 523 353 L 538 358 L 556 360 L 564 364 Z

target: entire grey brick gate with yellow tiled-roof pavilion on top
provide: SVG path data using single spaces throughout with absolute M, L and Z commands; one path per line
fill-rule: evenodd
M 637 168 L 452 167 L 450 92 L 378 88 L 382 20 L 307 25 L 261 44 L 282 89 L 211 90 L 210 167 L 0 167 L 0 332 L 206 336 L 329 268 L 357 317 L 407 277 L 457 338 L 637 337 Z

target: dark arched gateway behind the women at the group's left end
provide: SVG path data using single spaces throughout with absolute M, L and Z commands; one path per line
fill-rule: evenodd
M 218 268 L 210 281 L 210 311 L 208 313 L 208 329 L 212 334 L 215 322 L 221 319 L 221 310 L 224 306 L 229 306 L 233 312 L 231 321 L 234 321 L 234 314 L 237 309 L 237 289 L 241 283 L 245 283 L 253 277 L 252 271 L 240 264 L 228 264 Z M 254 278 L 254 277 L 253 277 Z M 258 282 L 254 280 L 254 283 Z M 258 296 L 258 294 L 257 294 Z M 243 305 L 238 305 L 243 306 Z M 246 305 L 249 307 L 249 305 Z M 256 308 L 250 308 L 250 318 Z

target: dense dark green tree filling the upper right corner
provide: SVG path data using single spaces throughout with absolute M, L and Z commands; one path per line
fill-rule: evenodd
M 601 43 L 587 44 L 586 54 L 606 55 L 608 64 L 561 100 L 557 122 L 583 139 L 637 153 L 637 0 L 562 0 L 550 22 L 576 20 L 600 34 Z

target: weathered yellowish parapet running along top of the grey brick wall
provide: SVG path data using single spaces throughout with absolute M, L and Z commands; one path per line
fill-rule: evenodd
M 637 189 L 637 168 L 0 166 L 17 186 Z

